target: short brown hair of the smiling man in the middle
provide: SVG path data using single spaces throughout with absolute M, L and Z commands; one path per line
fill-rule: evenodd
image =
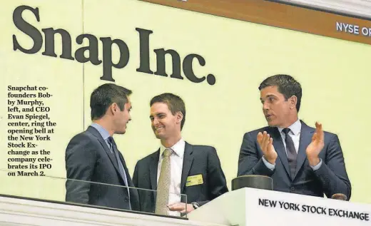
M 183 114 L 183 119 L 181 121 L 181 130 L 185 122 L 185 104 L 181 97 L 176 96 L 173 93 L 163 93 L 152 98 L 149 106 L 151 107 L 153 103 L 166 103 L 169 110 L 173 115 L 178 111 Z

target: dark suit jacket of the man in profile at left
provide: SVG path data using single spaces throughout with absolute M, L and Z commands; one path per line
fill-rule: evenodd
M 126 172 L 128 186 L 134 187 L 125 160 L 118 152 Z M 129 195 L 116 158 L 101 134 L 91 126 L 75 135 L 66 148 L 66 202 L 113 207 L 128 210 Z M 83 180 L 83 181 L 77 181 Z M 92 182 L 92 183 L 91 183 Z M 108 185 L 103 185 L 108 184 Z M 138 193 L 130 189 L 132 210 L 138 210 Z

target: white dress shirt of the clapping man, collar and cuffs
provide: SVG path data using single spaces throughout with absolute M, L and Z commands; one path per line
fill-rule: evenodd
M 296 153 L 298 153 L 299 143 L 300 143 L 300 131 L 301 131 L 300 120 L 299 119 L 296 120 L 295 123 L 293 123 L 293 125 L 290 125 L 288 128 L 290 129 L 290 132 L 288 133 L 288 135 L 290 135 L 290 138 L 293 140 Z M 286 135 L 285 135 L 285 133 L 283 133 L 283 129 L 284 128 L 279 128 L 278 127 L 278 131 L 280 131 L 280 135 L 281 135 L 281 138 L 282 138 L 282 141 L 283 141 L 283 145 L 285 145 L 286 155 L 288 155 L 288 150 L 286 148 L 286 142 L 285 142 Z M 270 170 L 275 169 L 275 164 L 269 163 L 267 160 L 265 160 L 265 158 L 263 158 L 263 162 L 264 162 L 265 166 L 267 168 L 269 168 Z M 312 170 L 318 170 L 321 167 L 321 165 L 322 165 L 322 159 L 320 159 L 320 163 L 318 163 L 315 166 L 310 165 L 310 167 L 312 168 Z

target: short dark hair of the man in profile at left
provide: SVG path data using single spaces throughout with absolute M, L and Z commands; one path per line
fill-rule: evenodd
M 102 118 L 112 103 L 117 103 L 123 111 L 131 93 L 131 90 L 113 83 L 106 83 L 96 88 L 90 96 L 91 120 Z

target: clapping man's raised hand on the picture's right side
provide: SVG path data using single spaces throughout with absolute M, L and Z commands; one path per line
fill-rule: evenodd
M 315 133 L 312 136 L 312 142 L 306 150 L 309 165 L 315 166 L 320 163 L 318 155 L 325 146 L 325 134 L 322 130 L 322 124 L 315 123 Z

